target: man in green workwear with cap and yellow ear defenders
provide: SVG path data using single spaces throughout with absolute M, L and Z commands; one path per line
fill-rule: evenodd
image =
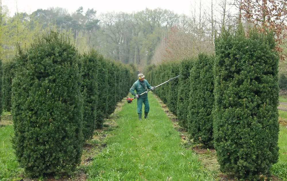
M 147 80 L 144 79 L 144 74 L 138 74 L 138 80 L 133 83 L 133 86 L 131 86 L 129 92 L 137 98 L 137 113 L 139 115 L 139 120 L 141 120 L 141 114 L 142 114 L 142 106 L 144 103 L 144 118 L 148 118 L 148 113 L 150 111 L 150 105 L 148 104 L 148 94 L 145 93 L 141 96 L 139 96 L 141 93 L 146 92 L 148 89 L 154 90 L 155 87 L 152 87 Z M 137 94 L 135 94 L 135 91 Z

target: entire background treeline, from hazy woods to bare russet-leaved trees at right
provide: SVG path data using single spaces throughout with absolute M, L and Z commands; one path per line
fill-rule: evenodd
M 268 6 L 264 2 L 194 1 L 191 2 L 190 15 L 179 15 L 160 8 L 135 13 L 97 14 L 97 9 L 83 7 L 74 12 L 53 7 L 9 15 L 9 7 L 2 3 L 0 56 L 3 62 L 9 61 L 16 53 L 15 42 L 20 42 L 22 47 L 25 44 L 30 46 L 35 34 L 53 30 L 73 37 L 81 53 L 92 47 L 105 57 L 122 63 L 133 62 L 139 70 L 143 70 L 151 63 L 182 60 L 201 52 L 214 53 L 214 40 L 222 27 L 231 26 L 235 29 L 240 21 L 245 27 L 275 27 L 280 32 L 280 35 L 276 33 L 276 43 L 279 49 L 283 49 L 282 55 L 286 55 L 286 33 L 282 30 L 287 26 L 286 22 L 281 22 L 287 16 L 284 8 L 286 2 L 274 0 Z M 280 61 L 280 71 L 286 74 L 285 70 L 285 61 Z

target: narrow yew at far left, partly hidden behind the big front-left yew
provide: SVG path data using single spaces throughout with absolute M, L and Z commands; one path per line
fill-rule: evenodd
M 11 88 L 15 66 L 15 60 L 3 64 L 3 109 L 7 111 L 11 110 Z

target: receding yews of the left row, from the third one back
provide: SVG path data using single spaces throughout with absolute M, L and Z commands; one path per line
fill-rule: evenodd
M 103 126 L 104 118 L 112 114 L 117 102 L 127 96 L 134 83 L 136 68 L 98 56 L 98 108 L 96 128 Z

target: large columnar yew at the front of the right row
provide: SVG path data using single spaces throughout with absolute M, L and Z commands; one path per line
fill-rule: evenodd
M 243 178 L 278 161 L 278 53 L 272 32 L 239 27 L 216 40 L 214 147 L 220 169 Z

